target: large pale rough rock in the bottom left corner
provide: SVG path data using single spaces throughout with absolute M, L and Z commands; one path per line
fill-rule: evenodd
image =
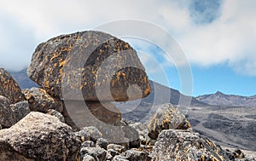
M 80 144 L 58 118 L 30 112 L 11 128 L 0 130 L 0 160 L 76 160 Z

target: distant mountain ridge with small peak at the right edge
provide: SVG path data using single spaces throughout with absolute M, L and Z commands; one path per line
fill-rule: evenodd
M 195 99 L 207 103 L 209 105 L 256 107 L 256 95 L 249 97 L 241 95 L 225 95 L 218 91 L 215 94 L 211 95 L 197 96 L 195 97 Z

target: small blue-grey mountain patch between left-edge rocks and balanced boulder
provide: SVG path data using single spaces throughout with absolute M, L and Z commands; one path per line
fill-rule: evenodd
M 20 89 L 31 89 L 32 87 L 38 87 L 37 83 L 34 83 L 26 75 L 26 69 L 20 72 L 9 72 L 17 83 L 20 85 Z

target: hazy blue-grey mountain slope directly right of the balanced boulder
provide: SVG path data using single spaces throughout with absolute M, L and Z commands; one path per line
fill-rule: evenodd
M 135 122 L 147 123 L 160 105 L 172 103 L 178 105 L 183 114 L 189 112 L 190 106 L 208 106 L 194 97 L 181 94 L 178 90 L 150 81 L 150 94 L 137 101 L 113 102 L 123 113 L 122 117 Z M 180 99 L 182 97 L 182 99 Z M 185 102 L 185 103 L 184 103 Z

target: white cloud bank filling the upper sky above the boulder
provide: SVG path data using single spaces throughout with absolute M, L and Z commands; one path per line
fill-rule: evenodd
M 191 65 L 230 66 L 256 76 L 253 0 L 1 1 L 0 66 L 27 66 L 38 43 L 112 20 L 147 20 L 170 32 Z M 152 33 L 154 35 L 154 33 Z

